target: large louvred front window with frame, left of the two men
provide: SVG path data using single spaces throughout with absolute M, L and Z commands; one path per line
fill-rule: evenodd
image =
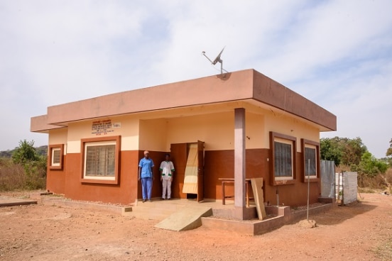
M 82 140 L 82 182 L 118 184 L 120 138 Z

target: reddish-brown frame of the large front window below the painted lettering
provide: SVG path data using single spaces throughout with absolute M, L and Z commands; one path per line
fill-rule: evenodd
M 87 176 L 85 174 L 86 167 L 86 152 L 88 146 L 98 145 L 115 145 L 114 147 L 114 176 Z M 82 183 L 99 183 L 99 184 L 119 184 L 119 166 L 120 166 L 120 150 L 121 150 L 121 136 L 109 136 L 99 138 L 85 138 L 81 140 L 81 182 Z

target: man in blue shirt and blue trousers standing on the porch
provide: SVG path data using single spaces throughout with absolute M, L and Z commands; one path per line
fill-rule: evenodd
M 141 179 L 141 194 L 143 202 L 151 201 L 151 190 L 153 188 L 153 167 L 154 162 L 148 157 L 148 150 L 144 151 L 144 157 L 140 160 L 138 165 L 138 180 Z

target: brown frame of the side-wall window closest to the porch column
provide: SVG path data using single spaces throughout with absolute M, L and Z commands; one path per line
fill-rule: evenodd
M 280 140 L 280 141 L 279 141 Z M 287 143 L 291 145 L 291 156 L 292 156 L 292 176 L 291 177 L 276 177 L 275 176 L 275 141 L 281 143 Z M 297 179 L 297 168 L 296 168 L 296 154 L 297 154 L 297 138 L 285 135 L 281 133 L 276 133 L 270 131 L 270 183 L 272 186 L 285 185 L 285 184 L 295 184 Z

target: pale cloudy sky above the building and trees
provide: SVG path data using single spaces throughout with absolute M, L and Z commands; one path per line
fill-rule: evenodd
M 254 69 L 337 116 L 321 138 L 392 139 L 392 1 L 0 0 L 0 150 L 48 106 Z

